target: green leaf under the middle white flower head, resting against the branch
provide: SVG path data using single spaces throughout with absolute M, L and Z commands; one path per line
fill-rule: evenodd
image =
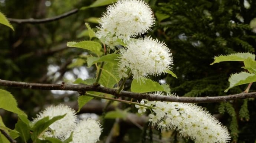
M 164 88 L 155 81 L 144 79 L 144 82 L 132 80 L 131 91 L 134 93 L 148 93 L 153 91 L 164 91 Z

